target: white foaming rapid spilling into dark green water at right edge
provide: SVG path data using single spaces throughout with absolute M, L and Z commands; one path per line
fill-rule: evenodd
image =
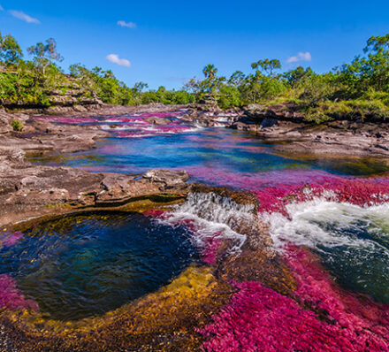
M 344 287 L 389 304 L 389 203 L 361 207 L 324 199 L 260 216 L 274 246 L 306 246 Z

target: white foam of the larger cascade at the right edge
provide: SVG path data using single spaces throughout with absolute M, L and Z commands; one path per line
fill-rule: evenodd
M 327 248 L 370 246 L 370 240 L 352 237 L 344 232 L 345 229 L 352 230 L 353 226 L 360 226 L 360 221 L 369 226 L 370 231 L 389 235 L 389 203 L 360 207 L 317 198 L 309 202 L 288 204 L 286 212 L 288 217 L 277 212 L 260 215 L 269 226 L 277 249 L 282 249 L 287 242 L 311 249 L 318 249 L 318 245 Z M 328 225 L 331 230 L 326 229 Z

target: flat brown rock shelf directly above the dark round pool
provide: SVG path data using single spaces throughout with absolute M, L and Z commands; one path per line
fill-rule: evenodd
M 78 142 L 79 138 L 73 138 Z M 187 172 L 152 170 L 144 175 L 91 173 L 71 167 L 31 165 L 23 149 L 0 138 L 0 226 L 67 207 L 118 206 L 150 195 L 185 194 Z M 30 149 L 30 142 L 19 147 Z M 47 146 L 46 146 L 47 147 Z

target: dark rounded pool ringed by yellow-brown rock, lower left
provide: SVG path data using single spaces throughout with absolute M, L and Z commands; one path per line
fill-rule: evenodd
M 0 249 L 0 273 L 50 318 L 103 314 L 156 291 L 196 260 L 186 229 L 138 213 L 61 218 Z

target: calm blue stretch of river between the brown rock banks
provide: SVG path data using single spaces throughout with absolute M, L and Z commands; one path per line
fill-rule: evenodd
M 388 172 L 389 165 L 372 158 L 287 157 L 252 134 L 225 128 L 143 138 L 109 138 L 97 148 L 65 155 L 31 157 L 44 165 L 71 165 L 91 172 L 145 172 L 151 168 L 258 173 L 285 169 L 319 169 L 341 175 Z M 194 174 L 195 176 L 195 174 Z

